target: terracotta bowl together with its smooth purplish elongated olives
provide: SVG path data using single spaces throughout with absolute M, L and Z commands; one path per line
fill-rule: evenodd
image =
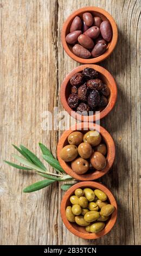
M 61 41 L 69 57 L 84 64 L 106 59 L 118 40 L 113 17 L 104 9 L 84 7 L 74 11 L 62 27 Z

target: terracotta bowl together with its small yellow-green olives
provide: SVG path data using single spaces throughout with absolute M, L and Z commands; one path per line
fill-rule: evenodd
M 111 231 L 117 220 L 117 203 L 98 182 L 79 182 L 65 193 L 61 217 L 66 228 L 83 239 L 98 239 Z

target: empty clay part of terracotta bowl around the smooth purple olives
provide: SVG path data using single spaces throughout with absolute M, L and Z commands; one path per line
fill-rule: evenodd
M 80 18 L 82 18 L 82 14 L 86 13 L 87 11 L 92 13 L 94 16 L 101 17 L 101 19 L 103 21 L 108 20 L 112 27 L 113 36 L 112 36 L 112 40 L 107 45 L 107 50 L 105 53 L 103 53 L 99 57 L 83 59 L 83 58 L 76 56 L 73 53 L 72 46 L 67 44 L 67 42 L 66 42 L 66 35 L 69 34 L 70 25 L 72 24 L 72 21 L 75 18 L 75 16 L 79 16 Z M 74 13 L 72 13 L 67 18 L 67 20 L 65 21 L 65 23 L 63 24 L 63 27 L 62 27 L 61 41 L 62 41 L 63 48 L 70 58 L 72 58 L 76 62 L 80 62 L 80 63 L 85 63 L 85 64 L 91 63 L 92 64 L 92 63 L 101 62 L 102 60 L 106 59 L 108 56 L 110 56 L 110 54 L 116 47 L 117 40 L 118 40 L 118 29 L 117 29 L 116 22 L 114 21 L 113 17 L 109 13 L 107 13 L 107 11 L 105 11 L 104 9 L 98 8 L 98 7 L 84 7 L 84 8 L 74 11 Z

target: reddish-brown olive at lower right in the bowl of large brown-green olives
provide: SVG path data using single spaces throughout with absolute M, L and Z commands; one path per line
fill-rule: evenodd
M 105 156 L 100 152 L 94 152 L 91 156 L 90 162 L 96 170 L 103 170 L 107 164 Z

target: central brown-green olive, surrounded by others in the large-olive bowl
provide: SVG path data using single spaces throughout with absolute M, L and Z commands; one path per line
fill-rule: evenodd
M 78 154 L 84 158 L 87 159 L 92 155 L 92 147 L 90 144 L 86 143 L 86 142 L 82 142 L 79 146 L 78 146 Z

